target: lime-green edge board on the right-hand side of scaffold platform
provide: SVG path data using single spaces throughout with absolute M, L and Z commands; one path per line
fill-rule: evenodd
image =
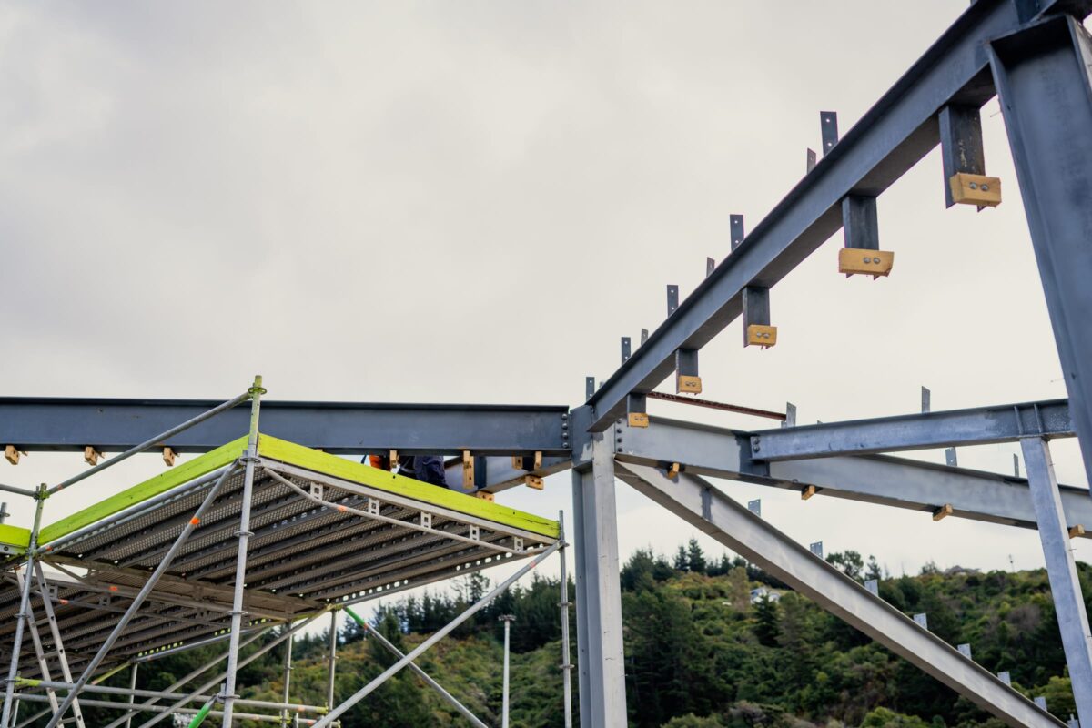
M 343 480 L 358 482 L 369 488 L 385 490 L 390 493 L 405 496 L 425 503 L 465 513 L 466 515 L 478 516 L 494 523 L 529 530 L 547 538 L 557 539 L 561 533 L 557 521 L 517 511 L 506 505 L 490 503 L 474 496 L 431 486 L 420 480 L 380 470 L 379 468 L 360 463 L 354 463 L 337 455 L 322 453 L 310 447 L 305 447 L 304 445 L 297 445 L 287 440 L 278 440 L 268 434 L 259 434 L 258 454 Z

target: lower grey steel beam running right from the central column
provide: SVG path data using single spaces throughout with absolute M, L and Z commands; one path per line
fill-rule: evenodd
M 950 504 L 956 517 L 1036 527 L 1024 478 L 881 455 L 757 463 L 748 456 L 746 432 L 655 417 L 648 428 L 618 426 L 616 430 L 615 456 L 624 463 L 658 468 L 678 463 L 695 475 L 795 492 L 814 486 L 819 496 L 923 513 Z M 1088 489 L 1059 486 L 1058 490 L 1068 524 L 1092 524 Z

